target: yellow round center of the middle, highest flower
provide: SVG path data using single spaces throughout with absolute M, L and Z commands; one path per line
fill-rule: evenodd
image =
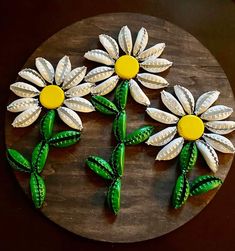
M 122 79 L 131 79 L 139 72 L 138 61 L 129 55 L 121 56 L 115 63 L 115 72 Z

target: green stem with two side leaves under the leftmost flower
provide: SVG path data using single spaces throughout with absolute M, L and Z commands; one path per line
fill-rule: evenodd
M 11 167 L 30 175 L 29 186 L 36 208 L 41 208 L 46 198 L 46 185 L 41 173 L 46 164 L 50 147 L 68 147 L 80 139 L 80 132 L 75 130 L 53 133 L 55 114 L 55 110 L 50 110 L 41 119 L 41 141 L 35 146 L 31 161 L 17 150 L 7 149 L 7 160 Z

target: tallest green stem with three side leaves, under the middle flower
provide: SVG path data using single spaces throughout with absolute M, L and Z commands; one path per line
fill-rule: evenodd
M 109 161 L 99 156 L 89 156 L 87 166 L 101 178 L 109 181 L 107 192 L 107 204 L 112 212 L 117 215 L 120 210 L 121 177 L 124 172 L 125 147 L 137 145 L 146 141 L 154 131 L 153 126 L 143 126 L 127 135 L 126 133 L 126 104 L 129 92 L 129 81 L 122 81 L 115 90 L 114 102 L 103 96 L 93 96 L 92 104 L 97 111 L 115 116 L 113 121 L 113 133 L 117 145 L 112 151 Z

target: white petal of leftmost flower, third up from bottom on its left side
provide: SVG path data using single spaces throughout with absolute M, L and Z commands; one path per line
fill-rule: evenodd
M 10 85 L 10 90 L 22 98 L 32 98 L 39 95 L 40 91 L 30 84 L 16 82 Z

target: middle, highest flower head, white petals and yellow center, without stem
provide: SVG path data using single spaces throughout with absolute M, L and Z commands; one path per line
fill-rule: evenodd
M 159 89 L 168 85 L 164 78 L 153 74 L 163 72 L 172 65 L 172 62 L 159 58 L 165 44 L 158 43 L 145 50 L 148 43 L 148 32 L 145 28 L 141 28 L 133 46 L 131 31 L 127 26 L 122 27 L 118 35 L 119 46 L 125 55 L 120 55 L 118 43 L 112 37 L 101 34 L 99 40 L 107 52 L 96 49 L 88 51 L 84 55 L 91 61 L 105 65 L 94 68 L 86 75 L 86 81 L 91 83 L 105 80 L 93 87 L 91 93 L 106 95 L 116 87 L 119 79 L 129 80 L 130 93 L 134 100 L 149 106 L 148 97 L 134 79 L 150 89 Z M 141 73 L 140 68 L 148 73 Z M 112 76 L 113 74 L 114 76 Z

